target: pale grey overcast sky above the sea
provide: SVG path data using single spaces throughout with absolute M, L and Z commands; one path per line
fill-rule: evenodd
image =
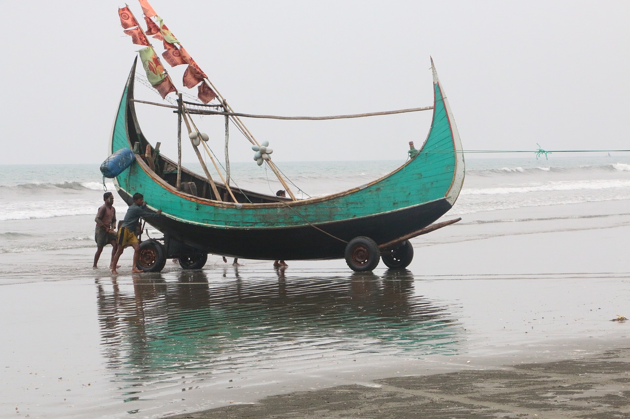
M 128 0 L 142 21 L 139 3 Z M 236 112 L 345 115 L 433 104 L 433 57 L 464 150 L 630 149 L 628 1 L 151 0 Z M 0 164 L 100 164 L 140 46 L 112 0 L 0 0 Z M 160 42 L 153 42 L 158 53 Z M 170 69 L 183 92 L 185 66 Z M 181 67 L 181 68 L 180 68 Z M 141 71 L 141 69 L 140 69 Z M 137 87 L 142 99 L 161 101 Z M 196 91 L 196 90 L 195 90 Z M 190 91 L 194 94 L 195 91 Z M 172 96 L 172 94 L 171 94 Z M 176 116 L 137 105 L 176 158 Z M 244 120 L 273 159 L 395 160 L 431 113 Z M 222 155 L 222 117 L 197 121 Z M 251 160 L 232 126 L 232 161 Z M 191 147 L 183 160 L 194 161 Z

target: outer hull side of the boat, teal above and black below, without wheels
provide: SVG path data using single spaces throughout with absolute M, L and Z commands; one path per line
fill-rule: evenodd
M 135 64 L 113 126 L 112 152 L 144 140 L 132 101 L 134 73 Z M 461 146 L 435 74 L 434 94 L 432 127 L 417 157 L 349 191 L 292 202 L 219 203 L 177 191 L 141 160 L 115 184 L 125 200 L 140 192 L 153 208 L 163 210 L 165 216 L 152 220 L 156 228 L 210 253 L 249 259 L 343 257 L 345 243 L 312 225 L 342 240 L 365 235 L 384 243 L 437 220 L 457 198 L 464 177 L 457 154 Z

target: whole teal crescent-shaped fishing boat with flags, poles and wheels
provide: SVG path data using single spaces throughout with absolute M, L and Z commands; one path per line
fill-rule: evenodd
M 118 193 L 127 204 L 133 203 L 134 193 L 142 193 L 149 197 L 149 210 L 163 211 L 160 216 L 146 220 L 164 237 L 150 238 L 140 244 L 140 269 L 161 271 L 165 260 L 171 257 L 178 258 L 184 268 L 198 269 L 203 267 L 210 253 L 263 260 L 345 258 L 354 271 L 371 271 L 382 257 L 388 267 L 402 269 L 413 258 L 410 238 L 459 221 L 457 218 L 432 224 L 450 210 L 464 182 L 459 134 L 433 60 L 433 106 L 388 112 L 433 109 L 432 125 L 422 147 L 416 150 L 410 142 L 406 163 L 368 184 L 327 196 L 297 199 L 272 161 L 268 143 L 258 143 L 239 118 L 253 115 L 234 113 L 147 0 L 140 0 L 140 5 L 147 30 L 140 27 L 129 6 L 118 9 L 120 23 L 127 29 L 125 33 L 132 36 L 133 43 L 146 46 L 139 55 L 151 86 L 163 98 L 171 92 L 178 94 L 177 106 L 170 106 L 177 109 L 178 115 L 178 159 L 170 160 L 161 155 L 159 143 L 152 145 L 140 129 L 135 103 L 147 102 L 134 99 L 136 59 L 115 117 L 110 142 L 112 155 L 101 165 L 103 176 L 114 179 Z M 163 42 L 163 57 L 171 67 L 188 65 L 183 84 L 189 88 L 198 85 L 201 103 L 182 100 L 149 36 Z M 214 99 L 217 101 L 210 103 Z M 258 165 L 266 164 L 278 176 L 289 197 L 232 186 L 229 172 L 224 178 L 215 164 L 212 151 L 205 143 L 208 137 L 197 129 L 192 119 L 194 114 L 219 114 L 226 118 L 226 149 L 228 121 L 234 123 L 253 144 Z M 355 116 L 359 115 L 330 118 Z M 306 119 L 324 118 L 328 117 Z M 205 176 L 181 165 L 182 119 Z M 212 179 L 198 149 L 200 145 L 223 182 Z M 406 145 L 401 147 L 401 152 L 404 148 Z

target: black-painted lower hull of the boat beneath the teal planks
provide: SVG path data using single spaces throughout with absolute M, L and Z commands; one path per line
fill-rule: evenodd
M 131 201 L 122 189 L 119 193 L 125 201 Z M 286 228 L 214 228 L 166 216 L 147 222 L 169 239 L 211 254 L 261 260 L 342 259 L 347 242 L 354 237 L 386 243 L 430 225 L 450 208 L 446 199 L 439 199 L 361 219 Z

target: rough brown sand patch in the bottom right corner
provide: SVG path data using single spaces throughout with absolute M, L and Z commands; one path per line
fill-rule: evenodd
M 593 418 L 630 416 L 630 349 L 536 364 L 403 376 L 170 419 Z

